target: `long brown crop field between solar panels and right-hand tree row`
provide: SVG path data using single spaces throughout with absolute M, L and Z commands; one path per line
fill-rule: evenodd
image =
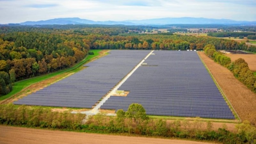
M 238 81 L 227 68 L 215 63 L 204 52 L 198 52 L 198 54 L 219 83 L 239 117 L 256 125 L 256 94 Z

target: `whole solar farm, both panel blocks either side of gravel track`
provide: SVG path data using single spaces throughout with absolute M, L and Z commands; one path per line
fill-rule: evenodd
M 150 51 L 111 50 L 82 71 L 14 104 L 92 108 L 129 74 Z M 148 115 L 235 119 L 196 52 L 154 51 L 100 109 L 126 111 L 139 103 Z

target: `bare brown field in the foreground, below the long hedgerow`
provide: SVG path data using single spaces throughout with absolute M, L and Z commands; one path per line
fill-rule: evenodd
M 116 136 L 107 134 L 78 133 L 68 131 L 54 131 L 24 127 L 0 125 L 0 143 L 90 143 L 90 144 L 205 144 L 204 142 L 188 140 L 171 140 L 146 137 Z

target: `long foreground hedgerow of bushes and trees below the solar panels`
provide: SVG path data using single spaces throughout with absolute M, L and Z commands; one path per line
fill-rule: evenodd
M 248 121 L 236 125 L 236 132 L 223 125 L 213 130 L 210 121 L 152 119 L 146 115 L 141 104 L 131 104 L 126 112 L 118 110 L 116 117 L 98 113 L 82 123 L 85 115 L 70 111 L 52 112 L 49 108 L 0 105 L 0 123 L 5 125 L 41 127 L 91 133 L 126 133 L 165 138 L 208 140 L 222 143 L 255 143 L 256 128 Z M 205 127 L 205 128 L 204 128 Z

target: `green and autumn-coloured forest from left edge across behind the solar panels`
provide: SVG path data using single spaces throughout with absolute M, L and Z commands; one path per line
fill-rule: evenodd
M 171 32 L 139 34 L 152 28 L 124 25 L 0 26 L 0 94 L 9 93 L 15 81 L 71 67 L 84 59 L 89 49 L 203 50 L 207 44 L 212 44 L 217 50 L 256 52 L 256 47 L 234 40 Z

